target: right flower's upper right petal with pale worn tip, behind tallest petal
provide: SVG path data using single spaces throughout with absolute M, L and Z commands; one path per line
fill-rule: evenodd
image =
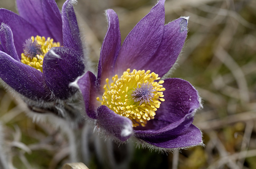
M 186 18 L 179 18 L 164 26 L 162 41 L 151 59 L 143 66 L 162 77 L 174 65 L 187 37 Z M 168 61 L 168 62 L 166 62 Z

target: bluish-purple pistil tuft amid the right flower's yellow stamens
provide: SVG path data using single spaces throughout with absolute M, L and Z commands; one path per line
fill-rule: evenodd
M 140 86 L 139 86 L 140 85 Z M 149 82 L 138 84 L 137 88 L 133 91 L 131 94 L 133 96 L 133 100 L 135 102 L 140 102 L 142 104 L 143 102 L 150 102 L 152 101 L 152 98 L 154 97 L 154 91 L 156 91 L 152 84 Z

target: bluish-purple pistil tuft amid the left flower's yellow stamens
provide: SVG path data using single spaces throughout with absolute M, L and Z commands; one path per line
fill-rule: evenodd
M 36 55 L 42 55 L 41 45 L 37 43 L 37 41 L 32 41 L 32 39 L 27 39 L 23 44 L 24 47 L 24 55 L 26 57 L 36 57 Z

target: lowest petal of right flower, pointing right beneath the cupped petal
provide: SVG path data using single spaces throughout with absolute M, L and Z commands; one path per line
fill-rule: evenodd
M 192 147 L 195 145 L 202 145 L 202 133 L 193 124 L 189 128 L 176 136 L 166 135 L 166 138 L 158 138 L 158 136 L 142 138 L 142 140 L 163 148 L 178 148 L 178 147 Z

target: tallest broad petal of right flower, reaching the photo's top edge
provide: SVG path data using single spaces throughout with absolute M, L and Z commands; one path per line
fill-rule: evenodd
M 158 49 L 164 32 L 164 1 L 159 0 L 127 35 L 116 60 L 116 74 L 140 69 Z

